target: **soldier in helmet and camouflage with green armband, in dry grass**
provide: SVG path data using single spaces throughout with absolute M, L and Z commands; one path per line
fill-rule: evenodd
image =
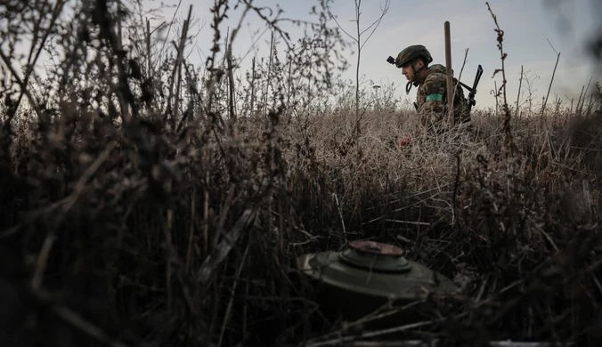
M 402 69 L 402 74 L 408 79 L 406 91 L 409 93 L 411 85 L 418 86 L 416 103 L 420 122 L 428 128 L 437 131 L 444 129 L 447 123 L 447 74 L 441 64 L 428 66 L 433 61 L 430 52 L 421 44 L 411 45 L 399 52 L 395 59 L 395 66 Z M 458 80 L 453 78 L 454 89 L 454 124 L 468 124 L 470 114 L 468 102 Z

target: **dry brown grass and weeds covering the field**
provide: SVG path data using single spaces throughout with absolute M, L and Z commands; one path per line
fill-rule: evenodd
M 235 3 L 216 1 L 200 67 L 190 23 L 150 35 L 136 3 L 0 4 L 3 346 L 357 342 L 293 276 L 356 238 L 458 282 L 406 338 L 602 342 L 599 85 L 543 115 L 500 97 L 475 132 L 434 136 L 389 85 L 356 117 L 326 1 L 304 49 L 238 2 L 290 47 L 237 69 Z

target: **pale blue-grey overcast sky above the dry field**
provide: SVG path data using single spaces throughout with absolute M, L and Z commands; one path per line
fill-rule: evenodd
M 155 0 L 145 0 L 150 7 L 160 3 Z M 175 6 L 178 0 L 163 0 L 167 6 Z M 193 4 L 193 18 L 198 20 L 195 29 L 203 23 L 205 27 L 196 38 L 198 48 L 190 56 L 192 61 L 203 61 L 203 54 L 207 54 L 211 47 L 212 32 L 209 24 L 212 13 L 209 8 L 213 0 L 182 0 L 176 16 L 184 19 L 191 4 Z M 234 2 L 232 2 L 234 3 Z M 378 18 L 379 8 L 385 0 L 362 0 L 362 28 Z M 282 17 L 298 20 L 316 20 L 309 15 L 309 10 L 315 4 L 313 0 L 255 0 L 254 4 L 276 8 L 280 5 L 284 11 Z M 594 69 L 596 66 L 589 57 L 585 56 L 584 43 L 592 33 L 596 32 L 602 2 L 597 0 L 504 0 L 490 1 L 492 11 L 497 15 L 500 27 L 505 31 L 504 50 L 508 53 L 506 72 L 508 79 L 508 101 L 515 102 L 517 98 L 518 79 L 521 65 L 525 72 L 534 77 L 534 93 L 541 99 L 548 90 L 549 80 L 552 77 L 557 55 L 549 43 L 553 44 L 557 52 L 561 52 L 554 85 L 550 99 L 554 93 L 565 99 L 574 97 L 575 102 L 582 91 L 582 85 L 587 85 L 590 77 L 594 75 L 595 81 L 599 75 Z M 595 8 L 598 6 L 598 8 Z M 232 10 L 231 10 L 232 11 Z M 175 8 L 163 10 L 162 15 L 171 20 Z M 336 0 L 331 5 L 331 12 L 338 17 L 338 22 L 353 35 L 354 0 Z M 240 19 L 240 9 L 231 12 L 230 21 L 224 24 L 232 27 Z M 361 74 L 366 79 L 371 79 L 376 84 L 395 83 L 399 95 L 403 98 L 415 97 L 416 88 L 412 89 L 409 96 L 403 89 L 406 84 L 401 70 L 386 62 L 386 57 L 395 55 L 403 47 L 410 44 L 424 44 L 432 53 L 434 62 L 445 64 L 443 23 L 451 22 L 452 32 L 452 66 L 456 76 L 460 73 L 465 49 L 469 49 L 468 61 L 462 73 L 462 82 L 472 85 L 476 68 L 481 64 L 484 75 L 481 78 L 479 91 L 476 96 L 477 107 L 488 107 L 495 103 L 492 94 L 493 81 L 501 82 L 501 75 L 494 79 L 494 69 L 500 68 L 500 52 L 496 46 L 496 33 L 492 16 L 487 5 L 481 0 L 421 0 L 403 1 L 392 0 L 386 16 L 380 23 L 377 31 L 362 49 Z M 332 25 L 335 22 L 332 21 Z M 253 47 L 250 32 L 259 30 L 264 32 L 264 23 L 256 14 L 249 14 L 243 24 L 243 30 L 237 37 L 234 47 L 235 55 L 243 55 Z M 290 27 L 288 27 L 290 28 Z M 293 37 L 298 37 L 299 32 L 292 31 Z M 365 36 L 364 36 L 365 37 Z M 258 53 L 267 55 L 270 32 L 265 31 L 258 41 Z M 548 42 L 549 40 L 549 42 Z M 344 77 L 354 78 L 355 50 L 346 51 L 351 69 Z M 249 54 L 243 66 L 247 67 L 253 54 Z M 593 82 L 592 82 L 593 83 Z M 523 84 L 525 86 L 525 83 Z

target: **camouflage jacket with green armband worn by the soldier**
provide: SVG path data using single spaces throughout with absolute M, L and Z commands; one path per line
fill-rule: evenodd
M 454 123 L 467 123 L 470 121 L 468 101 L 458 79 L 453 78 L 454 89 Z M 420 121 L 427 127 L 447 123 L 447 71 L 441 64 L 435 64 L 427 69 L 424 81 L 418 87 L 416 94 Z

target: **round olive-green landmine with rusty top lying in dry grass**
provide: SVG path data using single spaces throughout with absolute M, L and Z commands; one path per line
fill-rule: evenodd
M 376 326 L 362 324 L 363 328 L 402 327 L 428 320 L 420 313 L 425 308 L 421 303 L 427 295 L 449 295 L 456 289 L 450 278 L 406 259 L 400 247 L 369 240 L 353 241 L 341 252 L 302 255 L 297 258 L 297 266 L 316 290 L 321 312 L 330 319 L 365 319 L 386 304 L 398 309 L 387 314 L 386 319 L 378 319 Z M 354 337 L 348 337 L 357 342 Z M 436 340 L 426 344 L 422 341 L 396 343 L 402 343 L 395 344 L 401 346 L 438 345 Z M 492 342 L 490 345 L 573 346 L 572 343 L 512 341 Z

